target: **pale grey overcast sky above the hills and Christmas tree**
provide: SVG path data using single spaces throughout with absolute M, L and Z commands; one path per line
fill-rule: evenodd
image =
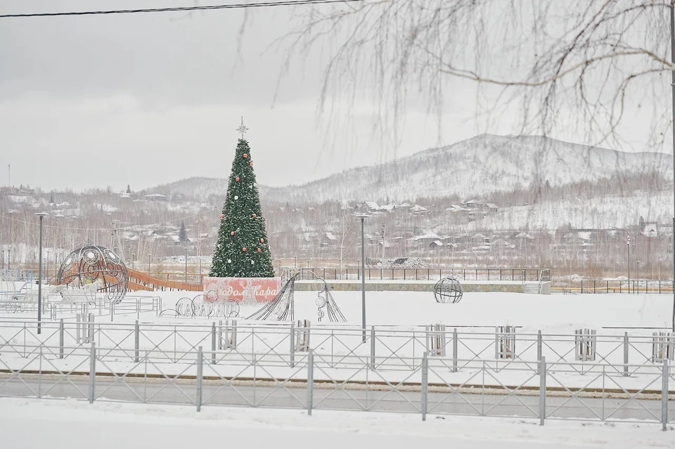
M 221 3 L 226 0 L 210 2 Z M 193 4 L 2 0 L 0 13 Z M 141 189 L 190 176 L 228 176 L 241 116 L 250 128 L 258 181 L 269 186 L 304 183 L 484 131 L 518 131 L 508 118 L 477 123 L 475 93 L 458 85 L 440 141 L 436 118 L 411 109 L 399 148 L 383 148 L 371 135 L 368 104 L 356 105 L 344 139 L 327 139 L 316 117 L 320 56 L 291 67 L 277 91 L 281 52 L 269 45 L 290 30 L 290 13 L 283 7 L 251 13 L 241 58 L 242 10 L 0 19 L 0 184 L 7 185 L 8 164 L 13 185 L 46 190 Z M 624 136 L 641 149 L 640 118 L 626 126 Z M 573 134 L 558 137 L 586 143 Z

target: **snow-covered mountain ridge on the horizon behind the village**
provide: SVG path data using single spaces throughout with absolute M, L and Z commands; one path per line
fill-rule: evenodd
M 543 136 L 482 134 L 372 167 L 359 167 L 301 186 L 259 186 L 266 201 L 326 202 L 417 197 L 469 197 L 525 188 L 532 183 L 562 186 L 597 181 L 626 172 L 655 172 L 672 178 L 672 155 L 622 152 Z M 226 178 L 188 178 L 148 192 L 225 195 Z

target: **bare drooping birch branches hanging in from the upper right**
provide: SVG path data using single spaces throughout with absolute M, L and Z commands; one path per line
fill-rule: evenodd
M 372 93 L 376 127 L 398 143 L 410 108 L 435 112 L 475 82 L 475 114 L 520 114 L 523 134 L 584 132 L 625 145 L 631 113 L 650 145 L 671 126 L 669 0 L 371 0 L 298 8 L 284 70 L 321 52 L 319 109 L 330 126 Z M 451 98 L 451 97 L 450 97 Z M 653 105 L 653 110 L 648 110 Z M 440 132 L 439 132 L 440 134 Z

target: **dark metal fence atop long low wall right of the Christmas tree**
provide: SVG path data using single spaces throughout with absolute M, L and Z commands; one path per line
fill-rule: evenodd
M 323 280 L 360 280 L 361 268 L 293 268 L 282 267 L 281 271 L 314 273 Z M 542 273 L 551 280 L 548 268 L 366 268 L 366 280 L 439 280 L 455 276 L 460 280 L 513 280 L 537 282 Z M 302 273 L 300 275 L 302 278 Z

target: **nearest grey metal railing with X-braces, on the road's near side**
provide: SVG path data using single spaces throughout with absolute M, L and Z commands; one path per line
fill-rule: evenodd
M 0 396 L 75 398 L 205 406 L 361 410 L 431 415 L 522 417 L 597 422 L 675 422 L 675 377 L 669 360 L 627 365 L 634 382 L 617 380 L 624 365 L 596 365 L 584 382 L 580 363 L 541 360 L 452 360 L 423 353 L 416 365 L 373 367 L 368 357 L 338 364 L 309 350 L 259 353 L 147 350 L 115 358 L 115 348 L 27 346 L 18 365 L 0 358 Z M 59 351 L 70 361 L 54 358 Z M 176 362 L 176 356 L 178 362 Z M 162 363 L 164 360 L 164 363 Z M 290 363 L 293 360 L 293 363 Z M 169 363 L 167 363 L 169 362 Z M 455 362 L 463 370 L 455 370 Z M 397 369 L 398 366 L 398 369 Z M 570 377 L 572 376 L 572 377 Z M 669 389 L 673 390 L 669 393 Z

